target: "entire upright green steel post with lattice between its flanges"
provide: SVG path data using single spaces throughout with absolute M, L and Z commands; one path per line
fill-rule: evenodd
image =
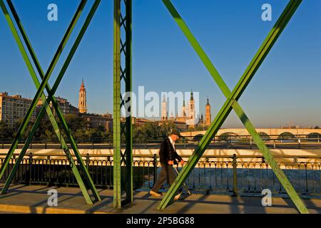
M 121 29 L 123 28 L 123 29 Z M 131 99 L 121 95 L 122 81 L 124 90 L 132 91 L 132 0 L 114 0 L 113 21 L 113 207 L 120 209 L 124 204 L 133 202 L 133 126 L 131 113 L 121 123 L 121 108 L 131 107 Z M 121 31 L 125 35 L 121 36 Z M 125 41 L 123 39 L 125 38 Z M 122 59 L 125 58 L 125 61 Z M 125 66 L 122 66 L 125 63 Z M 126 100 L 125 100 L 126 99 Z M 126 138 L 125 151 L 121 151 L 121 136 Z M 123 167 L 122 167 L 123 164 Z M 122 180 L 122 169 L 124 180 Z M 121 199 L 123 190 L 126 199 Z

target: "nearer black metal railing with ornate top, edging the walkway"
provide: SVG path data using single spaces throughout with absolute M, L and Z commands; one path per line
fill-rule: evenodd
M 16 156 L 16 155 L 15 155 Z M 321 157 L 275 156 L 295 190 L 309 197 L 321 196 Z M 4 158 L 0 158 L 2 164 Z M 188 160 L 185 158 L 185 160 Z M 1 182 L 9 176 L 16 162 L 13 157 Z M 113 188 L 113 157 L 86 155 L 83 157 L 93 182 L 98 188 Z M 77 162 L 76 162 L 76 165 Z M 134 189 L 149 190 L 156 181 L 157 155 L 135 155 L 133 160 Z M 178 170 L 182 167 L 178 166 Z M 123 174 L 124 175 L 123 170 Z M 26 155 L 21 162 L 14 183 L 26 185 L 77 186 L 76 178 L 68 166 L 68 159 L 61 155 Z M 274 194 L 285 194 L 285 190 L 270 170 L 264 157 L 260 156 L 205 156 L 190 173 L 186 185 L 195 192 L 204 194 L 255 195 L 263 189 Z M 166 186 L 165 186 L 166 187 Z

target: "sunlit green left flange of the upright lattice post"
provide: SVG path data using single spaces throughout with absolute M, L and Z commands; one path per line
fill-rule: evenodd
M 113 14 L 113 207 L 121 208 L 121 0 Z

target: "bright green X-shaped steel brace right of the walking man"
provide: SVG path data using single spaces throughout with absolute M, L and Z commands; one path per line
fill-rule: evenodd
M 275 175 L 277 176 L 278 180 L 280 180 L 280 183 L 287 191 L 287 194 L 295 203 L 297 209 L 301 213 L 309 213 L 307 208 L 305 207 L 305 204 L 303 204 L 299 195 L 297 195 L 297 192 L 295 192 L 295 189 L 292 187 L 289 180 L 287 180 L 287 177 L 280 169 L 280 166 L 277 165 L 277 162 L 275 162 L 267 146 L 260 138 L 260 135 L 255 130 L 253 124 L 250 122 L 250 120 L 245 115 L 243 109 L 240 107 L 238 103 L 238 99 L 244 92 L 245 88 L 248 86 L 248 83 L 250 83 L 256 71 L 258 71 L 258 68 L 263 63 L 265 57 L 269 53 L 274 43 L 277 41 L 277 38 L 280 36 L 283 29 L 290 21 L 293 14 L 295 14 L 295 11 L 300 6 L 301 2 L 302 0 L 290 0 L 289 4 L 287 4 L 285 10 L 282 12 L 280 19 L 277 20 L 277 23 L 268 34 L 263 45 L 260 47 L 258 53 L 256 53 L 255 57 L 253 58 L 253 61 L 251 61 L 245 73 L 240 78 L 240 81 L 238 82 L 237 86 L 235 86 L 234 90 L 231 92 L 228 86 L 223 81 L 223 78 L 216 70 L 215 66 L 213 66 L 213 63 L 211 63 L 205 51 L 203 51 L 203 48 L 200 47 L 200 44 L 193 36 L 193 33 L 190 32 L 188 26 L 185 24 L 183 19 L 178 14 L 178 11 L 175 9 L 171 1 L 163 0 L 163 3 L 165 4 L 166 8 L 168 9 L 168 11 L 170 11 L 170 14 L 173 16 L 174 20 L 185 34 L 186 38 L 188 38 L 188 41 L 193 46 L 196 53 L 198 53 L 198 56 L 200 57 L 201 61 L 203 61 L 204 65 L 210 72 L 211 76 L 214 78 L 215 82 L 218 84 L 220 90 L 222 90 L 227 100 L 225 101 L 223 107 L 220 109 L 218 115 L 216 115 L 213 123 L 210 125 L 202 140 L 198 144 L 198 147 L 193 152 L 193 155 L 188 160 L 187 165 L 183 167 L 183 170 L 180 172 L 175 182 L 168 190 L 168 193 L 163 198 L 161 204 L 159 204 L 158 209 L 165 209 L 168 203 L 173 199 L 175 192 L 178 192 L 181 185 L 183 185 L 183 182 L 185 182 L 185 180 L 188 178 L 190 172 L 193 170 L 198 160 L 200 160 L 200 157 L 203 155 L 205 149 L 210 144 L 210 141 L 213 139 L 214 135 L 218 133 L 218 130 L 223 125 L 231 110 L 234 109 L 235 113 L 238 115 L 245 128 L 248 130 L 250 135 L 252 135 L 253 140 L 258 145 L 258 148 L 263 153 L 265 160 L 268 162 L 273 172 L 275 172 Z

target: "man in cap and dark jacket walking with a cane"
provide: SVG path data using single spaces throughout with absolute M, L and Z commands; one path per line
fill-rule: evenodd
M 161 194 L 158 193 L 158 190 L 162 187 L 162 185 L 167 180 L 168 185 L 172 185 L 176 175 L 173 170 L 173 165 L 177 164 L 177 161 L 180 164 L 184 165 L 185 162 L 178 155 L 175 150 L 175 141 L 181 137 L 180 133 L 177 130 L 172 130 L 168 138 L 161 143 L 161 149 L 159 150 L 159 157 L 161 161 L 161 172 L 158 175 L 158 179 L 156 183 L 154 183 L 153 189 L 149 192 L 151 195 L 160 197 Z M 180 193 L 181 194 L 181 193 Z M 178 199 L 180 194 L 176 195 L 174 199 Z

